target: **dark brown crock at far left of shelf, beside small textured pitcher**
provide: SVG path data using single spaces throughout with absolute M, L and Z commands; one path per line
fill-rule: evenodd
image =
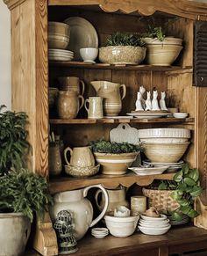
M 61 174 L 61 147 L 59 143 L 49 145 L 49 173 L 51 176 Z

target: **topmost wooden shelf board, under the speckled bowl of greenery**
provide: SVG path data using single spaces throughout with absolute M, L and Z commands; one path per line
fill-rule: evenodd
M 125 69 L 125 70 L 139 70 L 139 71 L 177 71 L 186 69 L 189 71 L 192 67 L 182 68 L 180 66 L 153 66 L 153 65 L 112 65 L 106 63 L 86 63 L 86 62 L 58 62 L 50 61 L 51 66 L 61 66 L 61 67 L 70 67 L 70 68 L 84 68 L 84 69 Z

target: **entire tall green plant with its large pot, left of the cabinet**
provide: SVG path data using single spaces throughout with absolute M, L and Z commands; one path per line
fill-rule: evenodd
M 33 215 L 44 215 L 51 201 L 46 179 L 22 168 L 31 149 L 24 112 L 0 106 L 0 248 L 1 255 L 22 255 Z

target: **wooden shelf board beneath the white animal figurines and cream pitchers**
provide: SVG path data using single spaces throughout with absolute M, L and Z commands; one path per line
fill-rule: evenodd
M 103 118 L 103 119 L 50 119 L 51 124 L 101 124 L 101 123 L 188 123 L 193 124 L 194 118 L 156 118 L 156 119 L 113 119 L 113 118 Z

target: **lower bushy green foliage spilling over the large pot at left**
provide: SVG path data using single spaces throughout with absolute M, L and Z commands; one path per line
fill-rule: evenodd
M 46 179 L 38 174 L 22 168 L 0 177 L 0 212 L 21 212 L 32 223 L 33 213 L 43 217 L 48 202 Z

